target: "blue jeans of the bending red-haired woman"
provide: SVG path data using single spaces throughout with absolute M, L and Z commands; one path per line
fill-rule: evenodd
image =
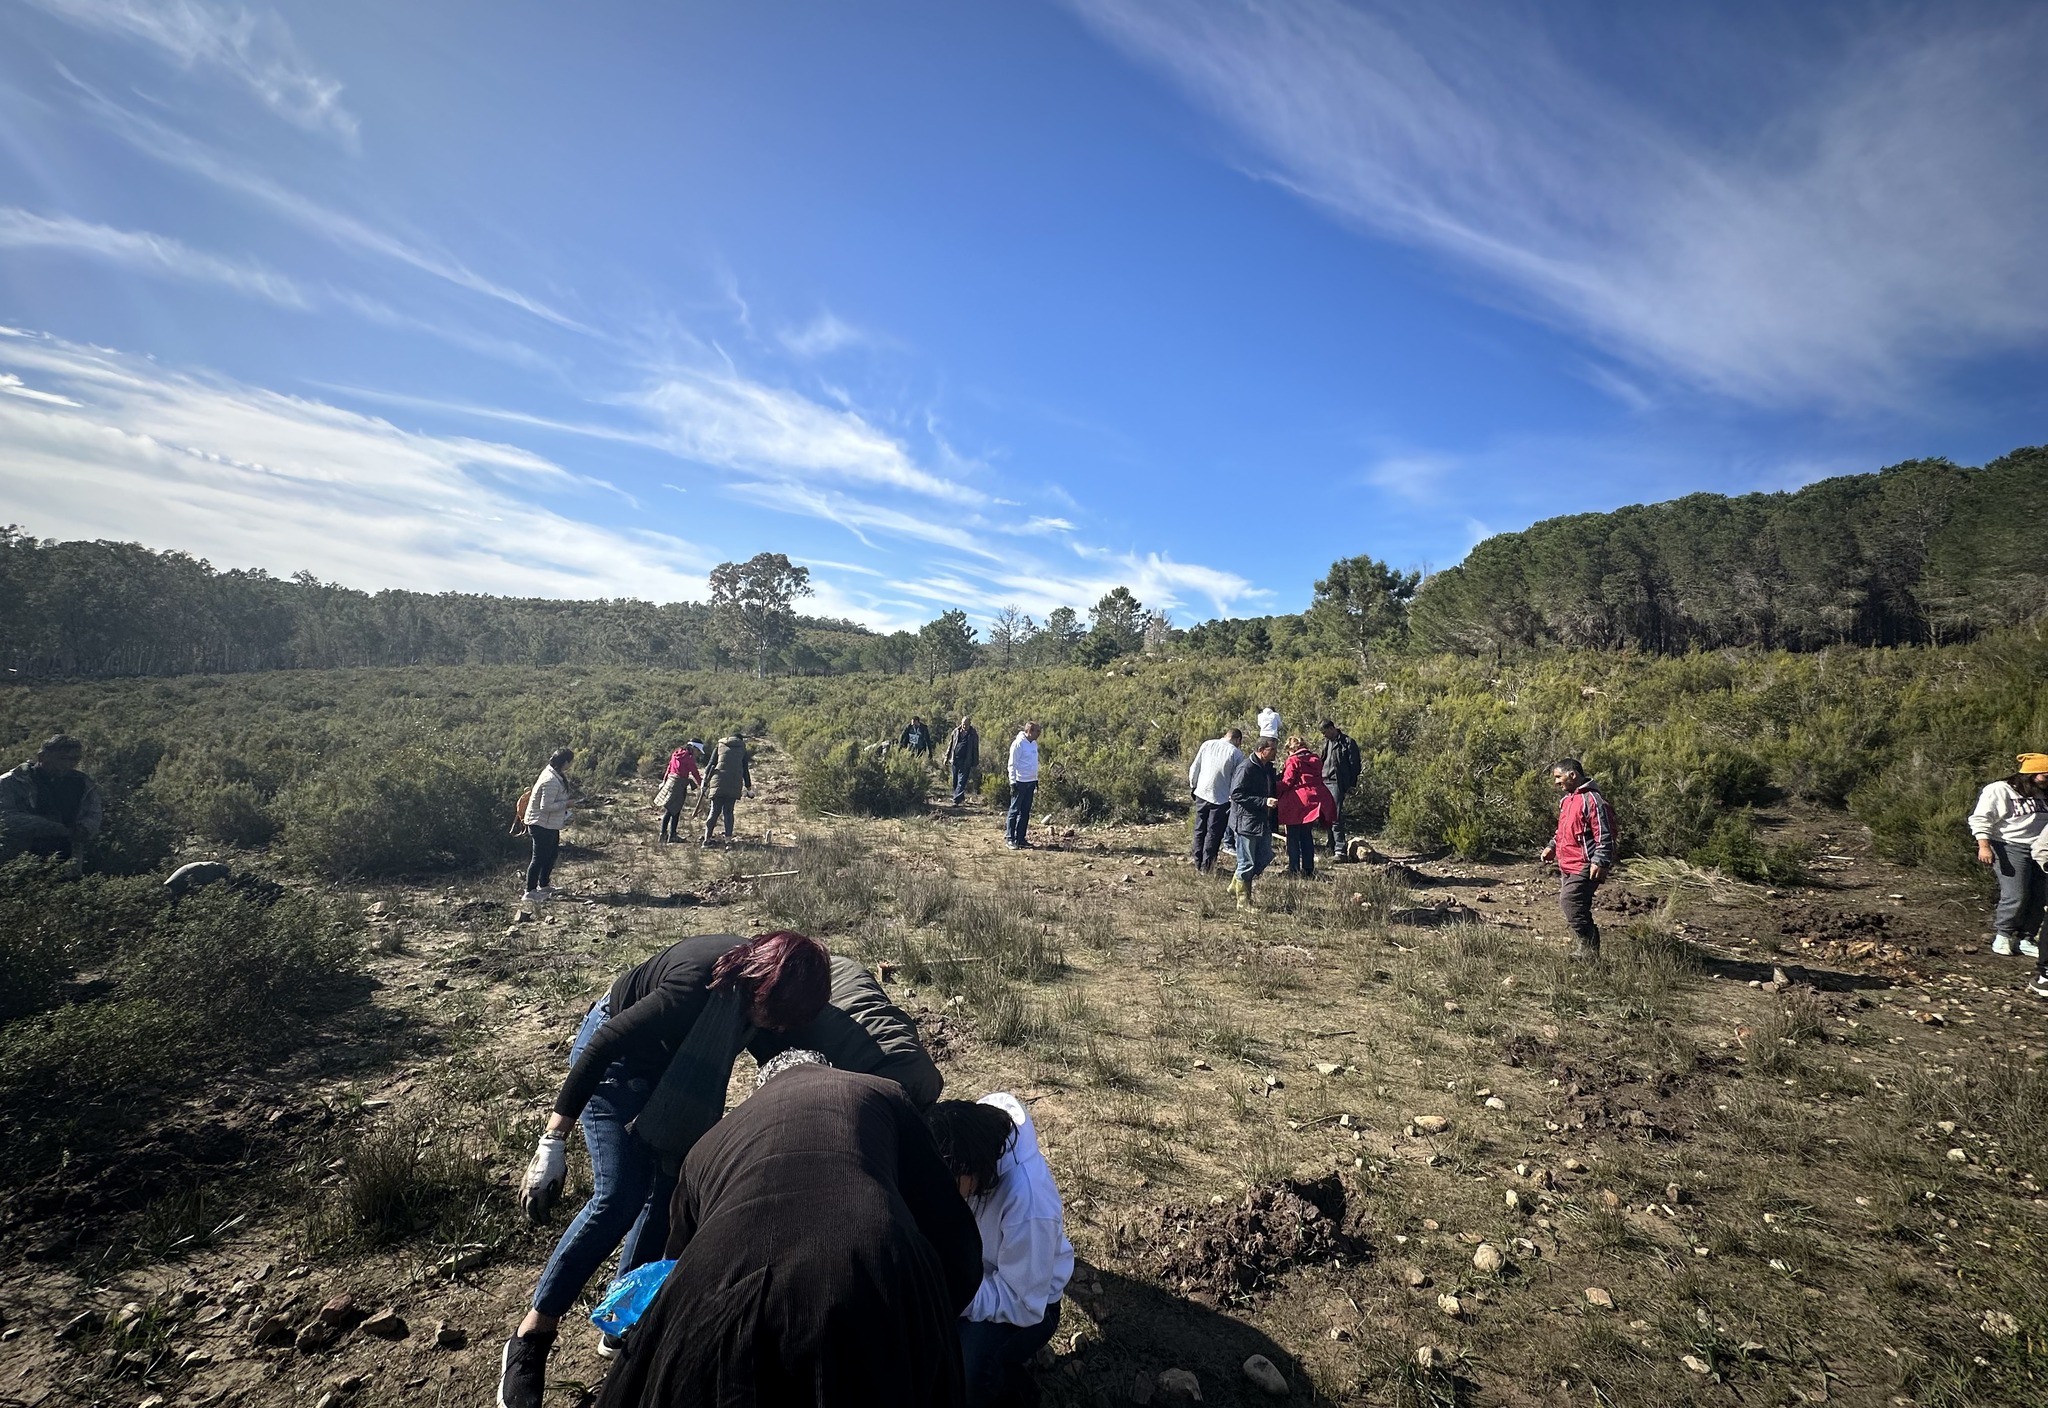
M 575 1031 L 571 1066 L 610 1015 L 612 999 L 600 997 Z M 532 1308 L 543 1316 L 565 1316 L 621 1242 L 621 1275 L 659 1261 L 668 1246 L 668 1199 L 676 1191 L 676 1179 L 662 1177 L 653 1150 L 627 1134 L 651 1093 L 651 1081 L 629 1081 L 625 1066 L 612 1062 L 584 1105 L 578 1124 L 590 1150 L 590 1201 L 555 1242 L 541 1285 L 532 1289 Z

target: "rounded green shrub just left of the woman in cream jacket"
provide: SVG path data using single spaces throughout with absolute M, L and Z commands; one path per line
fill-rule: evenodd
M 313 874 L 459 870 L 512 851 L 512 796 L 479 763 L 424 749 L 340 757 L 279 796 L 285 857 Z

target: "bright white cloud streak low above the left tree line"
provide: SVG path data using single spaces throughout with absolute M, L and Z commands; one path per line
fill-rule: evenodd
M 713 555 L 532 503 L 537 487 L 584 481 L 518 446 L 410 434 L 47 338 L 0 340 L 0 364 L 12 368 L 0 391 L 16 391 L 0 397 L 0 505 L 39 534 L 369 589 L 705 596 Z

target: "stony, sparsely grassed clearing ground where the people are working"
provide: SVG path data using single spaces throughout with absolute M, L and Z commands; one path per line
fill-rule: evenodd
M 1169 1367 L 1270 1402 L 1249 1353 L 1294 1402 L 2048 1402 L 2048 1005 L 1968 890 L 1827 819 L 1788 821 L 1815 886 L 1642 868 L 1575 966 L 1530 864 L 1325 866 L 1245 917 L 1180 827 L 799 823 L 780 761 L 731 851 L 592 808 L 532 921 L 510 872 L 356 892 L 375 991 L 326 1042 L 10 1205 L 0 1404 L 487 1402 L 584 1009 L 776 925 L 891 964 L 950 1093 L 1032 1103 L 1081 1263 L 1053 1404 Z M 342 1293 L 406 1338 L 260 1343 Z

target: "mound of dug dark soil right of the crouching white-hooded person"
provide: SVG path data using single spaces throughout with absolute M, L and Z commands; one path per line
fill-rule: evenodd
M 1174 1203 L 1157 1212 L 1139 1265 L 1194 1300 L 1243 1300 L 1288 1267 L 1356 1255 L 1341 1218 L 1343 1187 L 1335 1179 L 1268 1183 L 1225 1205 Z

